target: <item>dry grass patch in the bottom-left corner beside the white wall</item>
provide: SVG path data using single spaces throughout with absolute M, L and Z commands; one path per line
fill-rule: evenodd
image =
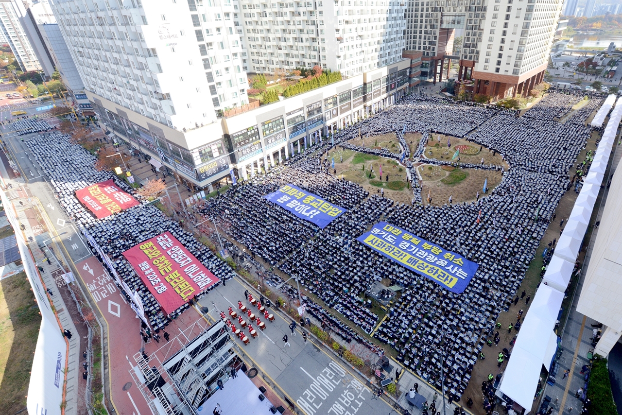
M 0 408 L 26 408 L 26 394 L 41 316 L 26 273 L 0 281 Z

